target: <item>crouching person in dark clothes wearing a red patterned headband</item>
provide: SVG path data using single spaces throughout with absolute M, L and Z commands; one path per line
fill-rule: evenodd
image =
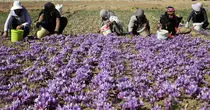
M 160 17 L 161 29 L 167 30 L 169 32 L 168 37 L 173 38 L 174 35 L 179 33 L 178 27 L 181 20 L 182 17 L 175 15 L 175 9 L 168 6 L 167 11 Z

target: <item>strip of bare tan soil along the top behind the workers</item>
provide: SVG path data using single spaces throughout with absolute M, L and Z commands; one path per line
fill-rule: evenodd
M 174 6 L 176 9 L 191 8 L 191 4 L 196 1 L 191 0 L 149 0 L 149 1 L 55 1 L 53 3 L 64 4 L 64 11 L 76 11 L 76 10 L 97 10 L 97 9 L 118 9 L 128 10 L 132 8 L 153 8 L 160 9 L 167 6 Z M 204 6 L 209 8 L 210 1 L 202 1 Z M 27 9 L 41 9 L 46 2 L 22 2 Z M 12 2 L 0 2 L 0 12 L 8 12 Z

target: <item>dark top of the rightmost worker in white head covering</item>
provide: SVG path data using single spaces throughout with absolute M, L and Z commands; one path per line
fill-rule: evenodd
M 201 23 L 203 22 L 203 28 L 205 29 L 208 25 L 208 17 L 207 17 L 207 13 L 206 10 L 204 8 L 201 8 L 200 12 L 196 12 L 196 11 L 192 11 L 187 19 L 187 22 L 190 22 L 190 20 L 192 19 L 193 23 Z

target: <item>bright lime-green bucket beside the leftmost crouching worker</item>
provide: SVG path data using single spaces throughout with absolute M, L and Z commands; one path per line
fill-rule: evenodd
M 23 40 L 23 30 L 11 30 L 11 42 L 17 42 Z

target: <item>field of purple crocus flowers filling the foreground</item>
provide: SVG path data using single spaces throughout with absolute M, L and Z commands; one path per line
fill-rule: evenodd
M 209 107 L 209 40 L 88 34 L 26 44 L 0 45 L 1 109 L 169 110 L 184 99 Z

